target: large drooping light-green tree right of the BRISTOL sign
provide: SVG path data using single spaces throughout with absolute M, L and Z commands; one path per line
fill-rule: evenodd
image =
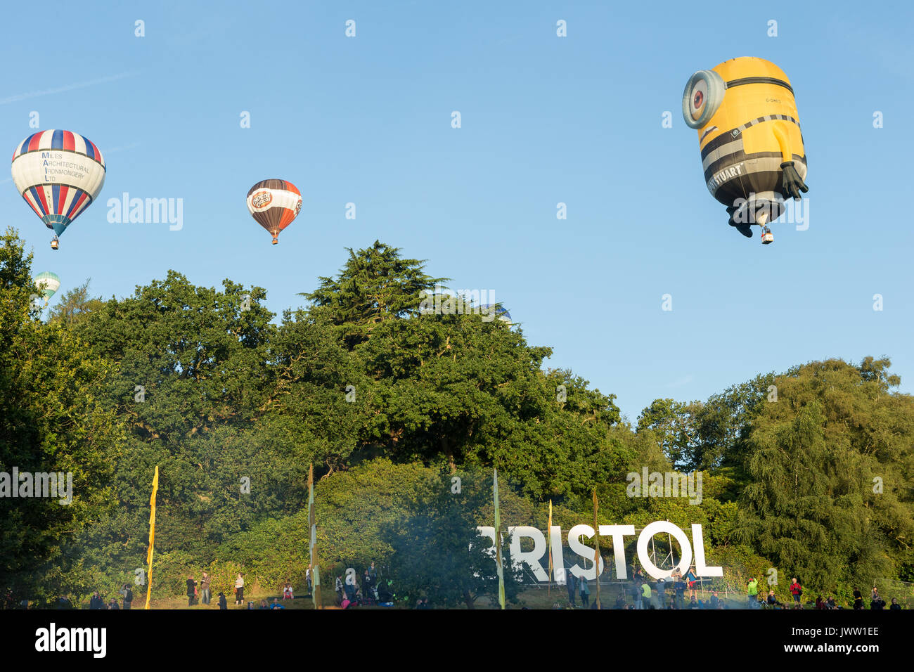
M 909 575 L 914 399 L 888 366 L 792 368 L 752 421 L 736 539 L 813 589 Z

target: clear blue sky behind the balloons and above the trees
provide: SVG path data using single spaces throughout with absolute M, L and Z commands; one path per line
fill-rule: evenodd
M 685 6 L 43 3 L 36 24 L 11 5 L 9 155 L 38 112 L 97 144 L 108 174 L 57 252 L 8 173 L 0 223 L 60 293 L 91 277 L 123 296 L 175 269 L 265 287 L 277 314 L 379 239 L 453 288 L 494 290 L 554 348 L 549 366 L 618 395 L 632 421 L 654 398 L 825 357 L 887 355 L 911 391 L 910 5 Z M 727 226 L 680 111 L 695 70 L 738 56 L 792 80 L 809 163 L 809 229 L 775 224 L 764 247 Z M 244 202 L 269 177 L 303 194 L 277 246 Z M 123 192 L 182 198 L 184 228 L 109 223 Z

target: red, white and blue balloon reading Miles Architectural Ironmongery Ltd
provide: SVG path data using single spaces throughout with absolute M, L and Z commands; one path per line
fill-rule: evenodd
M 51 248 L 69 223 L 89 208 L 105 183 L 105 160 L 89 138 L 70 131 L 39 131 L 13 153 L 13 182 L 48 229 Z

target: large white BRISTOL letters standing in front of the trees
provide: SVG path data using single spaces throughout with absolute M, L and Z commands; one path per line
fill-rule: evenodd
M 493 555 L 495 543 L 495 528 L 480 527 L 477 528 L 481 537 L 492 539 Z M 612 553 L 616 563 L 616 577 L 627 579 L 628 573 L 625 562 L 625 537 L 633 537 L 635 533 L 633 525 L 600 525 L 600 538 L 612 539 Z M 598 573 L 602 574 L 604 562 L 600 557 L 600 567 L 594 568 L 593 565 L 593 548 L 585 546 L 580 538 L 593 538 L 593 528 L 590 525 L 576 525 L 569 529 L 568 545 L 571 550 L 577 553 L 581 558 L 589 560 L 590 570 L 585 570 L 579 564 L 569 568 L 569 571 L 576 577 L 584 577 L 593 580 Z M 682 549 L 682 558 L 676 568 L 685 575 L 690 567 L 695 567 L 697 576 L 723 576 L 724 571 L 720 567 L 708 567 L 705 564 L 705 539 L 702 536 L 701 526 L 692 526 L 692 543 L 689 543 L 685 531 L 677 528 L 673 523 L 665 520 L 659 520 L 643 528 L 641 535 L 638 537 L 638 560 L 651 577 L 654 579 L 666 579 L 673 574 L 673 570 L 661 570 L 654 565 L 647 547 L 656 534 L 668 534 L 675 539 Z M 547 553 L 546 536 L 537 528 L 530 526 L 517 526 L 508 528 L 508 535 L 511 537 L 511 560 L 515 567 L 521 563 L 526 563 L 527 568 L 537 577 L 537 581 L 548 581 L 546 570 L 540 560 L 544 559 Z M 558 526 L 549 528 L 549 536 L 552 538 L 552 567 L 555 572 L 556 581 L 562 583 L 565 581 L 565 559 L 562 555 L 562 529 Z M 533 539 L 533 550 L 521 550 L 521 539 Z M 692 548 L 695 547 L 695 563 L 692 562 Z M 547 560 L 548 566 L 548 560 Z

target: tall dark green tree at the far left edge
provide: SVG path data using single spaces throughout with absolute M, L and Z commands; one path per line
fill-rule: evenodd
M 20 598 L 79 592 L 74 538 L 117 504 L 109 484 L 122 439 L 99 399 L 112 362 L 37 320 L 31 261 L 7 229 L 0 236 L 0 584 Z M 57 496 L 49 485 L 45 492 L 43 479 L 38 486 L 38 475 L 51 473 Z

